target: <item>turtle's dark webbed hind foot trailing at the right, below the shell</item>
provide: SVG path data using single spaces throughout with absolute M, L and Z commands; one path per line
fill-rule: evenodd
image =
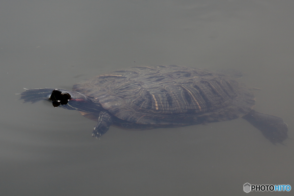
M 256 112 L 251 110 L 243 116 L 250 124 L 259 129 L 263 136 L 271 143 L 281 143 L 288 138 L 288 125 L 284 123 L 283 118 L 278 116 Z

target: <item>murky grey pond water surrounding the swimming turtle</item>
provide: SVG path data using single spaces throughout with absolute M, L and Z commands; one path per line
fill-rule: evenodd
M 77 111 L 23 104 L 14 95 L 71 89 L 131 66 L 235 68 L 245 73 L 240 82 L 262 89 L 255 109 L 282 117 L 293 138 L 293 8 L 293 1 L 2 2 L 1 195 L 240 195 L 246 182 L 294 187 L 293 140 L 273 145 L 243 119 L 111 127 L 97 140 L 96 122 Z

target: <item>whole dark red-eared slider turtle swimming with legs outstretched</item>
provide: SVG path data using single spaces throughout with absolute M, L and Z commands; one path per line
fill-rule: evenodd
M 72 91 L 28 89 L 24 102 L 48 100 L 97 121 L 93 136 L 109 126 L 171 128 L 244 118 L 272 143 L 282 143 L 287 124 L 253 110 L 251 90 L 222 73 L 181 66 L 137 66 L 76 83 Z

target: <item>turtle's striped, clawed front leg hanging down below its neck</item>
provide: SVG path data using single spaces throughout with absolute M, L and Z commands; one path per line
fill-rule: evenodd
M 92 136 L 96 138 L 100 137 L 108 131 L 112 123 L 111 115 L 107 111 L 101 111 L 99 113 L 98 123 L 94 127 Z

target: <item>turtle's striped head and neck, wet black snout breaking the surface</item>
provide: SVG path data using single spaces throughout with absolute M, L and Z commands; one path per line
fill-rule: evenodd
M 99 103 L 79 92 L 64 89 L 54 89 L 48 100 L 54 107 L 60 105 L 69 110 L 88 111 L 90 108 L 97 109 L 96 107 L 100 106 Z

